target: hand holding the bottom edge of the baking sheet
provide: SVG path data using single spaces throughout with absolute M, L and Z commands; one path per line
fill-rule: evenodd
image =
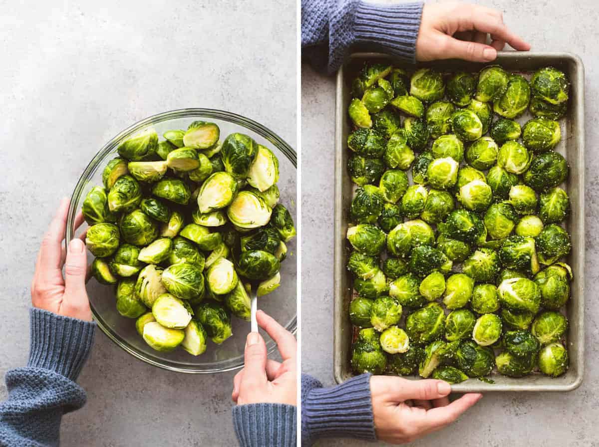
M 447 382 L 391 376 L 372 376 L 370 391 L 377 439 L 391 444 L 412 442 L 440 430 L 482 397 L 464 394 L 449 403 L 451 385 Z

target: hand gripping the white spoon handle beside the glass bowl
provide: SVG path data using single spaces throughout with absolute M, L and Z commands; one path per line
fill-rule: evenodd
M 235 375 L 231 398 L 237 405 L 297 402 L 297 343 L 291 332 L 263 311 L 256 312 L 258 325 L 277 343 L 283 363 L 267 358 L 264 339 L 258 332 L 247 335 L 245 366 Z

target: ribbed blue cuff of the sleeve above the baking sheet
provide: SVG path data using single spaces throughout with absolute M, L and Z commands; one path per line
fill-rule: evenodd
M 381 5 L 359 1 L 353 17 L 353 43 L 416 62 L 422 7 L 422 2 Z

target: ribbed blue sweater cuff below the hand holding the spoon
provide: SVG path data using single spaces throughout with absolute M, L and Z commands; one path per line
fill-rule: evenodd
M 282 403 L 252 403 L 233 408 L 241 447 L 295 447 L 297 408 Z

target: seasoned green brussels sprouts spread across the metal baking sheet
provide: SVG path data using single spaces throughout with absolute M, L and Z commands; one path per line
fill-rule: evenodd
M 568 368 L 570 83 L 365 65 L 352 83 L 347 229 L 355 373 L 459 383 Z M 529 120 L 521 118 L 525 112 Z

